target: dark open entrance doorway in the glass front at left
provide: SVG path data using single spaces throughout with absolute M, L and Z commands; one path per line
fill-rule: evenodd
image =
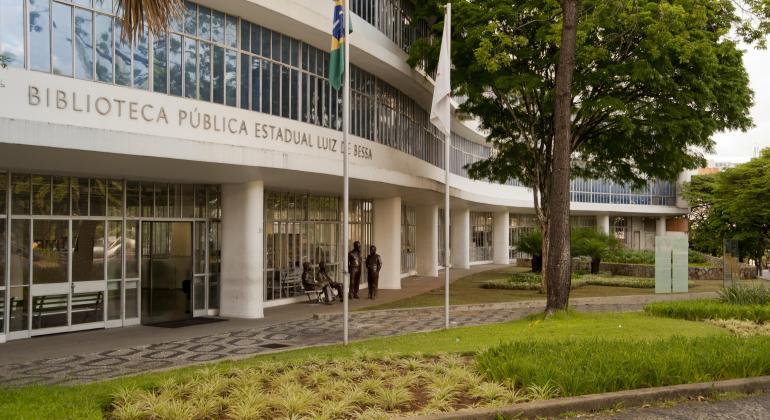
M 193 224 L 142 222 L 142 324 L 193 317 Z

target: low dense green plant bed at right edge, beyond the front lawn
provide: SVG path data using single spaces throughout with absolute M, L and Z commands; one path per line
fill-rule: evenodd
M 703 321 L 707 319 L 741 319 L 765 323 L 770 321 L 770 305 L 739 305 L 716 300 L 684 300 L 656 302 L 644 307 L 655 316 Z

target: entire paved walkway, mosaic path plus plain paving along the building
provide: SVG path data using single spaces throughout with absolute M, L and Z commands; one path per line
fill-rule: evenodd
M 480 266 L 455 270 L 454 279 L 499 268 Z M 404 280 L 404 289 L 383 291 L 377 304 L 402 299 L 439 287 L 436 278 Z M 697 299 L 714 293 L 639 295 L 571 300 L 571 308 L 591 312 L 641 310 L 659 300 Z M 365 299 L 351 308 L 374 304 Z M 541 312 L 544 300 L 453 306 L 453 326 L 483 325 L 521 319 Z M 180 329 L 137 326 L 47 336 L 0 344 L 0 387 L 30 384 L 75 384 L 99 381 L 158 369 L 225 359 L 243 358 L 342 339 L 341 305 L 307 303 L 266 311 L 259 320 L 226 322 Z M 443 307 L 352 312 L 350 337 L 360 340 L 444 327 Z

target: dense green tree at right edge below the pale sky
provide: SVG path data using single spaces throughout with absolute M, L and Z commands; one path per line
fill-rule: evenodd
M 737 240 L 738 256 L 760 263 L 770 247 L 770 149 L 735 168 L 693 177 L 684 195 L 695 249 L 719 254 L 725 239 Z

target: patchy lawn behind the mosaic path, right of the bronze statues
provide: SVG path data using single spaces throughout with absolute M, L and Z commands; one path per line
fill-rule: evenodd
M 467 305 L 474 303 L 498 303 L 516 302 L 523 300 L 545 300 L 545 295 L 534 290 L 497 290 L 483 289 L 481 285 L 490 280 L 504 279 L 515 272 L 526 272 L 527 268 L 506 267 L 498 270 L 484 271 L 455 280 L 449 286 L 449 303 L 451 305 Z M 716 292 L 722 287 L 721 280 L 695 281 L 695 286 L 690 292 Z M 600 297 L 600 296 L 630 296 L 654 294 L 653 289 L 639 289 L 633 287 L 612 286 L 584 286 L 573 289 L 572 298 Z M 378 309 L 420 308 L 428 306 L 444 305 L 444 288 L 440 287 L 429 292 L 385 303 L 382 305 L 368 306 L 360 310 L 370 311 Z

